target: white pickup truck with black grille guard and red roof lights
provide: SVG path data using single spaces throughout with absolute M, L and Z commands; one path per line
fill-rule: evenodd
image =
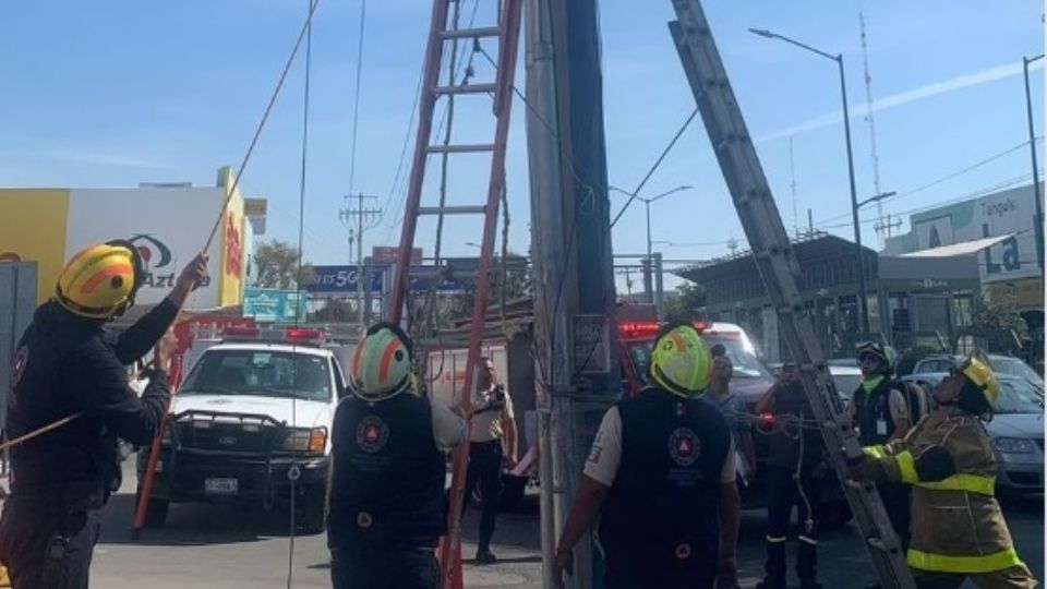
M 253 332 L 204 350 L 173 397 L 147 525 L 163 525 L 170 503 L 269 509 L 290 497 L 297 474 L 299 527 L 324 530 L 330 429 L 345 377 L 334 353 L 311 337 L 318 332 Z M 139 495 L 148 454 L 139 453 Z

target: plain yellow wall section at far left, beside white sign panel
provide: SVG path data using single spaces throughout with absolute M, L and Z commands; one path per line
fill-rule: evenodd
M 68 190 L 0 190 L 0 259 L 37 263 L 38 302 L 53 293 L 65 262 L 68 217 Z

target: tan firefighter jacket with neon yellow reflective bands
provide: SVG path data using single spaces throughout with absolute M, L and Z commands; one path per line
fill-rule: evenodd
M 937 469 L 920 458 L 936 446 L 947 450 L 955 465 L 955 472 L 941 480 L 932 480 L 940 474 L 931 474 Z M 990 573 L 1021 564 L 994 496 L 996 457 L 977 417 L 953 406 L 941 407 L 904 440 L 865 450 L 880 461 L 889 480 L 913 485 L 911 567 Z

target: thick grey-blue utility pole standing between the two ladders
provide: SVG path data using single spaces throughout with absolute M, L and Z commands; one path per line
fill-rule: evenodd
M 534 325 L 544 381 L 542 562 L 544 585 L 554 587 L 556 540 L 621 384 L 595 2 L 528 0 L 525 14 Z M 568 587 L 588 589 L 601 574 L 583 539 Z

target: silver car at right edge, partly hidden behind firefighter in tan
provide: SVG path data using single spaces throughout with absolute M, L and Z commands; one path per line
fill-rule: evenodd
M 947 373 L 910 374 L 903 380 L 934 388 Z M 1044 389 L 1026 378 L 997 374 L 1000 397 L 986 431 L 996 453 L 997 490 L 1044 492 Z

